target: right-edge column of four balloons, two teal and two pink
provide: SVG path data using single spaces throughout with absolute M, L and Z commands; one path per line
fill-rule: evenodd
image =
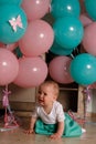
M 79 19 L 84 25 L 82 47 L 86 53 L 77 55 L 71 63 L 71 75 L 79 84 L 96 82 L 96 0 L 84 0 L 85 13 Z

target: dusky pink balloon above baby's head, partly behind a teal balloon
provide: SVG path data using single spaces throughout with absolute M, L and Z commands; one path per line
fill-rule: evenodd
M 72 59 L 68 56 L 56 56 L 49 64 L 51 78 L 58 83 L 71 83 L 73 79 L 68 72 Z

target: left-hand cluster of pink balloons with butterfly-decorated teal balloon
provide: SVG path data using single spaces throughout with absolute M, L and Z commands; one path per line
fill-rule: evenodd
M 50 0 L 0 0 L 0 85 L 38 86 L 47 75 L 41 58 L 53 43 L 54 32 L 43 18 Z M 14 55 L 17 47 L 21 58 Z M 3 49 L 4 48 L 4 49 Z

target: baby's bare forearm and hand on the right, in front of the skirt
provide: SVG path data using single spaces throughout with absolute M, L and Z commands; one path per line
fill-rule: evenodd
M 61 138 L 64 132 L 64 122 L 58 122 L 57 132 L 51 135 L 51 138 Z

